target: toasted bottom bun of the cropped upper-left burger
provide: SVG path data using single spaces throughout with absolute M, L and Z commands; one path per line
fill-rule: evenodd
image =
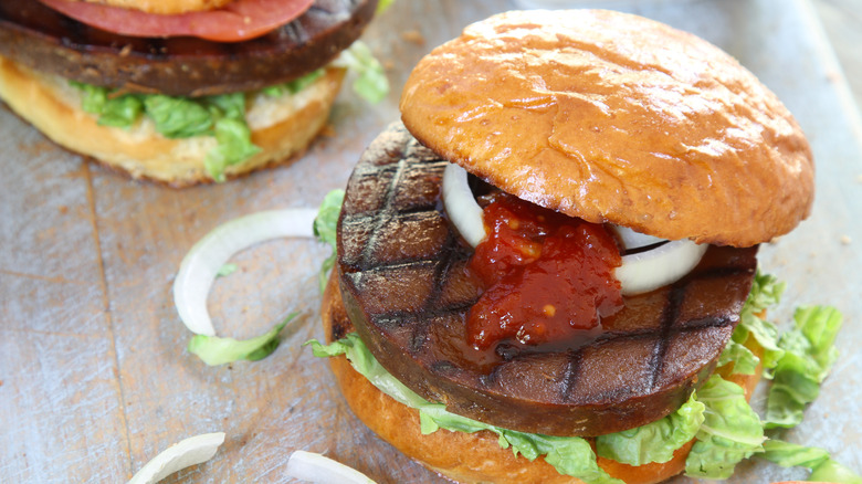
M 249 99 L 253 157 L 225 168 L 228 178 L 284 162 L 305 151 L 324 127 L 345 71 L 327 69 L 312 85 L 291 96 Z M 56 144 L 90 156 L 133 178 L 185 187 L 213 181 L 204 168 L 212 136 L 168 139 L 149 119 L 129 129 L 99 126 L 97 117 L 81 109 L 76 90 L 63 80 L 44 76 L 0 57 L 0 98 Z M 269 103 L 269 104 L 267 104 Z

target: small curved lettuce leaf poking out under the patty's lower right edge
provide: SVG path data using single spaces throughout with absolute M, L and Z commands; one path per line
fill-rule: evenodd
M 695 393 L 670 415 L 635 429 L 599 435 L 599 455 L 629 465 L 667 462 L 673 452 L 694 439 L 704 421 L 705 406 Z

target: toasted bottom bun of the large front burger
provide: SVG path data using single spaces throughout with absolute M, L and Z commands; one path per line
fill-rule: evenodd
M 353 329 L 347 317 L 337 277 L 330 277 L 323 302 L 323 324 L 327 340 L 343 336 Z M 756 349 L 756 348 L 755 348 Z M 560 475 L 543 457 L 529 461 L 516 456 L 511 449 L 501 449 L 496 434 L 438 430 L 423 435 L 419 424 L 419 411 L 403 406 L 377 389 L 359 375 L 345 357 L 330 359 L 333 372 L 354 413 L 381 439 L 406 455 L 441 475 L 462 483 L 580 483 Z M 757 385 L 760 369 L 755 376 L 727 377 L 746 389 L 750 398 Z M 651 484 L 665 481 L 685 469 L 685 459 L 694 441 L 679 449 L 671 461 L 631 466 L 598 457 L 599 466 L 613 477 L 628 484 Z

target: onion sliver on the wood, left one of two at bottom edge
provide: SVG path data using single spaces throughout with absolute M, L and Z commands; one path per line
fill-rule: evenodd
M 144 464 L 128 484 L 154 484 L 175 472 L 207 462 L 224 443 L 224 432 L 202 433 L 181 440 Z

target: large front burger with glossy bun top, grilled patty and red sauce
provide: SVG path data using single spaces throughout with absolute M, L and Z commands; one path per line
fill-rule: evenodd
M 756 253 L 809 214 L 813 161 L 751 73 L 637 15 L 507 12 L 400 107 L 347 183 L 312 343 L 374 432 L 459 482 L 726 478 L 793 445 L 746 402 L 785 375 Z

